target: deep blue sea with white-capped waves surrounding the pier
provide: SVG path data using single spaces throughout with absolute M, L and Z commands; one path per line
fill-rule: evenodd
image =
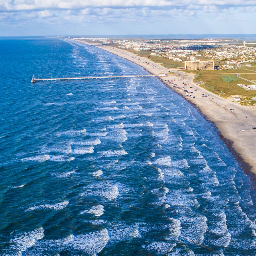
M 255 255 L 251 181 L 155 77 L 68 40 L 2 38 L 0 254 Z

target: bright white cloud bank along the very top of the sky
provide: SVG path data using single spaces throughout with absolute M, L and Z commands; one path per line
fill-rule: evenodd
M 171 8 L 188 6 L 254 6 L 256 0 L 0 0 L 0 11 L 98 8 Z

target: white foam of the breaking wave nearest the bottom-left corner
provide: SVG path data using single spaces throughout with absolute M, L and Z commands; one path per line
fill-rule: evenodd
M 32 247 L 36 242 L 44 237 L 44 228 L 40 227 L 33 231 L 25 232 L 23 234 L 15 235 L 10 240 L 12 244 L 12 250 L 17 250 L 16 255 L 22 255 L 21 252 L 25 252 L 29 247 Z

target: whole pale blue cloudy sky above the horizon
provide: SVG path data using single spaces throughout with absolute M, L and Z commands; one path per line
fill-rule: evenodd
M 256 0 L 0 0 L 0 36 L 256 34 Z

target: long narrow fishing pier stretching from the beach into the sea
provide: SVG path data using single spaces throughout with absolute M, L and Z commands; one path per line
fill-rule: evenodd
M 32 76 L 31 83 L 36 82 L 52 82 L 52 81 L 72 81 L 72 80 L 90 80 L 90 79 L 112 79 L 112 78 L 131 78 L 131 77 L 148 77 L 148 76 L 163 76 L 158 75 L 128 75 L 128 76 L 83 76 L 83 77 L 61 77 L 61 78 L 38 78 Z

